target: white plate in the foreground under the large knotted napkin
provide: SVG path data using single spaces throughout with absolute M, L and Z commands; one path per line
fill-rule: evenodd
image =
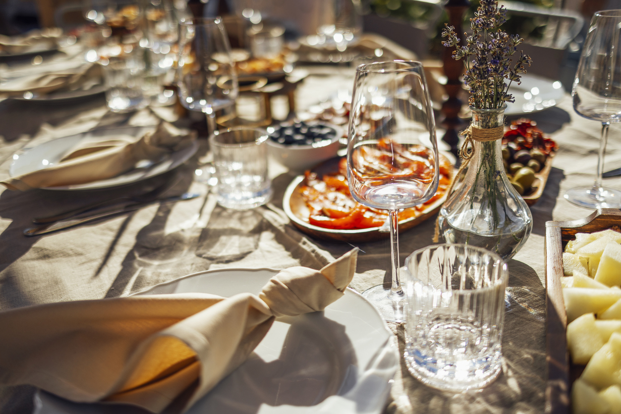
M 278 271 L 194 273 L 142 294 L 258 294 Z M 186 414 L 379 413 L 399 367 L 392 334 L 351 289 L 324 312 L 278 318 L 255 352 Z M 133 414 L 134 407 L 78 404 L 39 390 L 34 414 Z

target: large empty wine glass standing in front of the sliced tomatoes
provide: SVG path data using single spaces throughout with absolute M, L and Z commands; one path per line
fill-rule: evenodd
M 363 296 L 385 320 L 402 322 L 398 212 L 424 203 L 438 188 L 435 121 L 422 63 L 384 61 L 356 69 L 347 179 L 356 201 L 389 211 L 392 287 L 375 286 Z

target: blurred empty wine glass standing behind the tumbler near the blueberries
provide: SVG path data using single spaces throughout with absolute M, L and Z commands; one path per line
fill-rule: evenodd
M 204 112 L 209 130 L 214 132 L 215 111 L 233 106 L 238 94 L 229 38 L 220 17 L 179 24 L 179 98 L 187 109 Z

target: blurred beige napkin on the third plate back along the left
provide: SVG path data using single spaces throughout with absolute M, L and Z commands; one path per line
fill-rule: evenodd
M 96 63 L 10 79 L 0 83 L 0 96 L 20 97 L 24 92 L 43 95 L 60 89 L 70 91 L 78 89 L 88 79 L 101 79 L 101 68 Z

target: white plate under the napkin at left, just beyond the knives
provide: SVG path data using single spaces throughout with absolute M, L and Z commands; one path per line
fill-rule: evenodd
M 40 145 L 28 148 L 23 153 L 13 155 L 13 162 L 9 166 L 9 175 L 16 177 L 21 174 L 31 173 L 39 169 L 47 168 L 58 163 L 66 151 L 70 150 L 81 140 L 104 140 L 114 139 L 119 135 L 131 135 L 139 137 L 155 127 L 121 127 L 93 130 L 69 137 L 57 138 Z M 47 190 L 90 190 L 107 187 L 122 186 L 132 182 L 147 179 L 158 174 L 166 173 L 178 167 L 181 163 L 188 160 L 198 149 L 198 143 L 193 142 L 188 148 L 171 153 L 165 159 L 147 166 L 145 168 L 135 168 L 127 173 L 114 178 L 88 182 L 86 184 L 73 184 L 71 186 L 45 187 Z

